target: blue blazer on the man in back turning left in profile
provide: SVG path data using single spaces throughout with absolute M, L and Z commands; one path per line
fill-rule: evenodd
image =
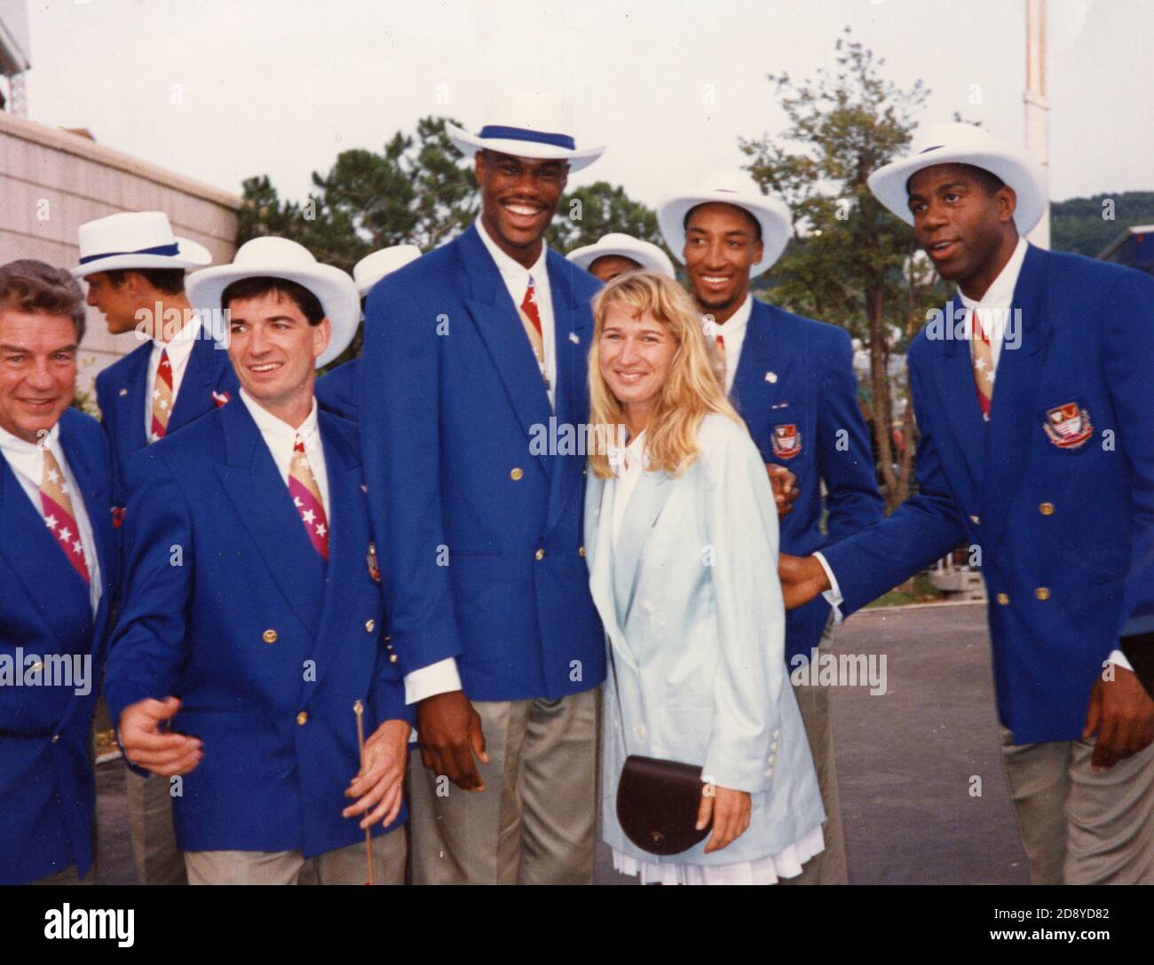
M 123 505 L 127 496 L 123 489 L 125 467 L 133 453 L 148 445 L 148 434 L 144 431 L 144 392 L 148 389 L 151 352 L 152 342 L 147 341 L 96 377 L 100 422 L 112 443 L 118 505 Z M 219 408 L 220 397 L 237 398 L 239 390 L 228 353 L 202 330 L 188 356 L 188 367 L 185 369 L 172 415 L 168 416 L 167 435 Z

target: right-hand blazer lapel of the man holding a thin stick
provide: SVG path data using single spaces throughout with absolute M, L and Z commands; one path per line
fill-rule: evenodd
M 320 632 L 313 654 L 316 679 L 321 681 L 334 657 L 349 641 L 350 635 L 340 633 L 336 624 L 340 617 L 339 597 L 342 594 L 350 594 L 352 587 L 360 585 L 358 581 L 365 580 L 369 535 L 367 507 L 360 488 L 360 459 L 355 450 L 330 424 L 328 413 L 320 413 L 319 420 L 324 467 L 329 478 L 329 565 Z M 312 549 L 309 551 L 313 552 Z M 349 602 L 347 597 L 344 602 Z

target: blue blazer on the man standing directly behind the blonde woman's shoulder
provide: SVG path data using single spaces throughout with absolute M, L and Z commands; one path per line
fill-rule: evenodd
M 885 502 L 845 330 L 755 299 L 730 395 L 763 460 L 797 476 L 801 495 L 781 520 L 782 552 L 808 556 L 882 519 Z M 823 480 L 829 535 L 818 528 Z M 787 661 L 809 658 L 829 616 L 822 597 L 789 612 Z

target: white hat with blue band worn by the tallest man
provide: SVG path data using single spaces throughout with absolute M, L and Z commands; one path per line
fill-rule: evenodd
M 561 95 L 535 90 L 503 90 L 489 106 L 488 120 L 477 135 L 445 123 L 452 145 L 470 160 L 478 151 L 500 151 L 518 158 L 561 158 L 569 171 L 589 167 L 605 146 L 577 150 L 572 111 Z

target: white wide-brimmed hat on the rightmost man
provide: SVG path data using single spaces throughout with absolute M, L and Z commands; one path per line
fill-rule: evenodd
M 870 174 L 869 188 L 882 204 L 912 225 L 914 216 L 906 183 L 923 167 L 938 164 L 972 164 L 1013 188 L 1018 196 L 1013 219 L 1019 234 L 1027 234 L 1042 220 L 1049 204 L 1042 166 L 1021 148 L 973 125 L 950 122 L 919 130 L 909 145 L 909 156 Z

